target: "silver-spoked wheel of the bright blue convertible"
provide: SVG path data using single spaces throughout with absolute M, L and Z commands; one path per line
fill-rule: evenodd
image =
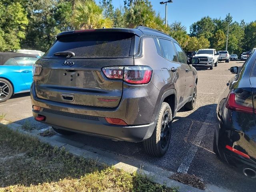
M 12 94 L 12 84 L 8 80 L 0 78 L 0 102 L 5 102 L 10 99 Z

